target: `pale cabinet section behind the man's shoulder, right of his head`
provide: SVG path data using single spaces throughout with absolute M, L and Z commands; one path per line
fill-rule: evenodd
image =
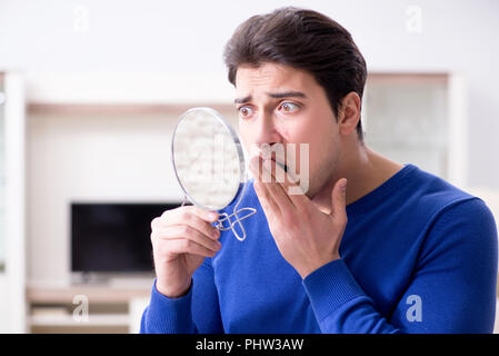
M 453 73 L 371 73 L 363 98 L 366 142 L 401 164 L 413 164 L 466 185 L 466 96 Z

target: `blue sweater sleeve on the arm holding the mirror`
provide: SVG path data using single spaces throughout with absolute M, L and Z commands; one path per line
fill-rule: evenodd
M 168 298 L 152 286 L 151 298 L 140 323 L 142 334 L 223 333 L 211 258 L 192 276 L 187 295 Z

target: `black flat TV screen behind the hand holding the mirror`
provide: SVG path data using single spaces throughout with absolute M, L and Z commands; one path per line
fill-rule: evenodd
M 71 270 L 152 271 L 151 221 L 180 204 L 71 204 Z

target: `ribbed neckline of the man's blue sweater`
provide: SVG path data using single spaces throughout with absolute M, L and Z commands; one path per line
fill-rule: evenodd
M 356 201 L 347 206 L 347 212 L 361 212 L 367 209 L 371 209 L 373 205 L 378 205 L 380 201 L 386 200 L 387 196 L 393 191 L 393 189 L 400 187 L 406 181 L 406 178 L 417 170 L 418 167 L 411 164 L 405 164 L 403 167 L 397 171 L 393 176 L 383 181 L 380 186 L 357 199 Z

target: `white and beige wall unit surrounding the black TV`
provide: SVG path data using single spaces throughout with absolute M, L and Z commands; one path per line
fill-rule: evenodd
M 71 285 L 68 204 L 181 200 L 169 139 L 179 116 L 193 106 L 210 106 L 233 120 L 233 105 L 208 102 L 29 103 L 29 333 L 139 330 L 152 280 L 147 287 L 129 279 L 100 287 Z M 88 296 L 88 322 L 72 317 L 76 295 Z

